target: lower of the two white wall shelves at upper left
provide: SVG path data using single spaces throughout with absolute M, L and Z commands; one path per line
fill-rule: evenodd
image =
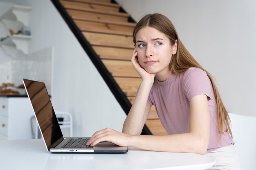
M 8 55 L 16 57 L 17 50 L 21 50 L 24 54 L 28 53 L 28 40 L 31 37 L 31 35 L 13 35 L 4 39 L 0 45 Z

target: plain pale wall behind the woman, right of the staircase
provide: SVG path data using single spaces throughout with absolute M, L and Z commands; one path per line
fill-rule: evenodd
M 162 13 L 216 79 L 228 112 L 256 116 L 255 0 L 117 0 L 136 20 Z

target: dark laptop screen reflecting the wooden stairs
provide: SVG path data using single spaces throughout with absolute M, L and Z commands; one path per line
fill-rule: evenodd
M 45 83 L 23 79 L 36 119 L 49 149 L 54 142 L 63 138 L 61 128 L 52 107 Z

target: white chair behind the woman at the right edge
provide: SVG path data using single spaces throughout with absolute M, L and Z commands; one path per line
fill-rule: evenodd
M 256 170 L 256 117 L 229 113 L 242 170 Z

